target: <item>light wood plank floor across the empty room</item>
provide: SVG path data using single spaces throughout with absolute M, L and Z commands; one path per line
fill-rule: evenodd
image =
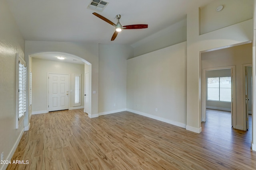
M 200 134 L 128 111 L 93 119 L 82 109 L 32 115 L 12 158 L 29 164 L 7 169 L 256 169 L 250 132 L 218 125 L 224 118 L 214 123 L 218 113 L 207 112 Z

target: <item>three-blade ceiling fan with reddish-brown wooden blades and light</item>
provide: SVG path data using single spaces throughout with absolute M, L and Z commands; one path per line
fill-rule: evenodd
M 114 22 L 108 20 L 104 16 L 101 16 L 100 14 L 97 14 L 96 12 L 94 12 L 92 14 L 94 14 L 98 18 L 100 18 L 100 19 L 106 21 L 107 23 L 110 23 L 114 27 L 116 27 L 116 31 L 114 32 L 114 34 L 113 34 L 113 36 L 111 38 L 111 41 L 114 41 L 114 39 L 116 39 L 116 36 L 118 35 L 118 32 L 122 31 L 122 29 L 142 29 L 142 28 L 147 28 L 148 27 L 147 24 L 135 24 L 135 25 L 125 25 L 125 26 L 122 26 L 121 23 L 119 22 L 119 19 L 121 18 L 120 14 L 116 15 L 116 18 L 118 19 L 118 22 L 116 24 Z

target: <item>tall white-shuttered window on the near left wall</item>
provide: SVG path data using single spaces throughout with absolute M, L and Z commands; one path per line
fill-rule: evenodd
M 16 128 L 18 122 L 26 113 L 26 62 L 21 58 L 17 58 L 17 104 L 16 104 Z

